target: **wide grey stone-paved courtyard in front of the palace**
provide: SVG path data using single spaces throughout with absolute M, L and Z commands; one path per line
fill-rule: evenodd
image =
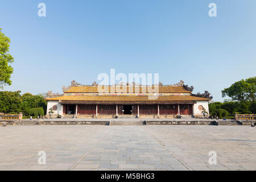
M 46 152 L 46 165 L 38 152 Z M 217 164 L 208 155 L 216 151 Z M 0 127 L 0 170 L 255 170 L 250 126 Z

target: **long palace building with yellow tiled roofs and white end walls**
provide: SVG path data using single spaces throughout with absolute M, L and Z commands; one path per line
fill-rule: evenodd
M 175 85 L 159 83 L 158 93 L 149 92 L 147 86 L 134 83 L 105 88 L 109 92 L 99 93 L 96 82 L 92 85 L 80 85 L 72 81 L 68 88 L 63 86 L 64 94 L 48 92 L 47 114 L 52 110 L 52 117 L 200 117 L 204 111 L 209 113 L 208 102 L 212 99 L 207 91 L 204 94 L 192 94 L 193 86 L 188 87 L 183 81 Z M 120 89 L 125 92 L 119 93 Z M 152 96 L 155 98 L 150 98 Z

